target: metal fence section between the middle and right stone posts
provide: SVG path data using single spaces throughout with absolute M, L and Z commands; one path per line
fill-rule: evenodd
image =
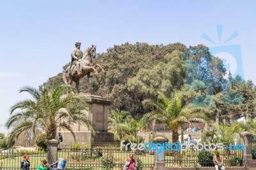
M 213 157 L 216 151 L 198 151 L 193 147 L 183 151 L 166 151 L 166 167 L 213 167 Z M 244 166 L 243 151 L 223 150 L 218 151 L 223 157 L 223 166 Z

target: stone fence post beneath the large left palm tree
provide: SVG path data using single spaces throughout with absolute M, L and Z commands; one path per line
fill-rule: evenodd
M 59 141 L 56 141 L 55 139 L 51 139 L 48 141 L 48 146 L 47 146 L 48 164 L 52 164 L 57 161 L 57 159 L 58 159 L 58 153 L 57 153 L 58 144 L 59 144 Z

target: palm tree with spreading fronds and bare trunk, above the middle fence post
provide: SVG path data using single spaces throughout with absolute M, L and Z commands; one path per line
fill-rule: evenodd
M 170 98 L 161 92 L 157 92 L 157 95 L 161 102 L 154 100 L 143 101 L 143 104 L 152 105 L 155 108 L 143 116 L 143 121 L 150 122 L 150 120 L 156 120 L 157 122 L 166 123 L 170 127 L 170 130 L 172 130 L 173 143 L 178 143 L 179 141 L 178 128 L 180 125 L 189 123 L 190 121 L 204 122 L 203 117 L 199 118 L 198 116 L 196 118 L 193 116 L 192 113 L 196 111 L 195 109 L 193 110 L 189 106 L 182 107 L 181 93 L 172 93 Z

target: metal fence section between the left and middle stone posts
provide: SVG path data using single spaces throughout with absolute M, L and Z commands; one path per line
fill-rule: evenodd
M 138 161 L 143 170 L 152 170 L 154 154 L 145 151 L 121 151 L 116 146 L 60 146 L 58 158 L 66 158 L 66 169 L 122 169 L 130 154 Z

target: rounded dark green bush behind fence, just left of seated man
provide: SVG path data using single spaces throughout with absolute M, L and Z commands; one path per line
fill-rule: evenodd
M 212 167 L 214 166 L 212 162 L 213 154 L 210 151 L 202 150 L 198 153 L 198 163 L 202 167 Z

